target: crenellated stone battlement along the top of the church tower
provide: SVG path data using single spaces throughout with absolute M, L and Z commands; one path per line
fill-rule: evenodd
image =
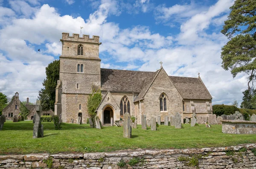
M 99 43 L 99 36 L 93 35 L 93 38 L 90 38 L 89 35 L 84 35 L 79 37 L 79 34 L 73 34 L 72 37 L 69 36 L 69 33 L 62 33 L 62 40 L 75 41 L 75 42 L 89 42 L 89 43 Z

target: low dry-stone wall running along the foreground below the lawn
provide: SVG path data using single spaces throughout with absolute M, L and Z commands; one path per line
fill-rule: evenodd
M 85 154 L 0 155 L 0 169 L 233 169 L 256 167 L 256 144 L 202 149 L 138 149 Z M 131 159 L 133 166 L 117 164 Z M 189 166 L 190 165 L 190 166 Z

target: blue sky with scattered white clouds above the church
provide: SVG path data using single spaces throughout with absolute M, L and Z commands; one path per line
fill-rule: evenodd
M 0 0 L 0 92 L 35 101 L 61 33 L 100 36 L 102 68 L 197 77 L 213 104 L 242 99 L 247 79 L 221 68 L 233 0 Z M 40 52 L 38 49 L 40 48 Z

